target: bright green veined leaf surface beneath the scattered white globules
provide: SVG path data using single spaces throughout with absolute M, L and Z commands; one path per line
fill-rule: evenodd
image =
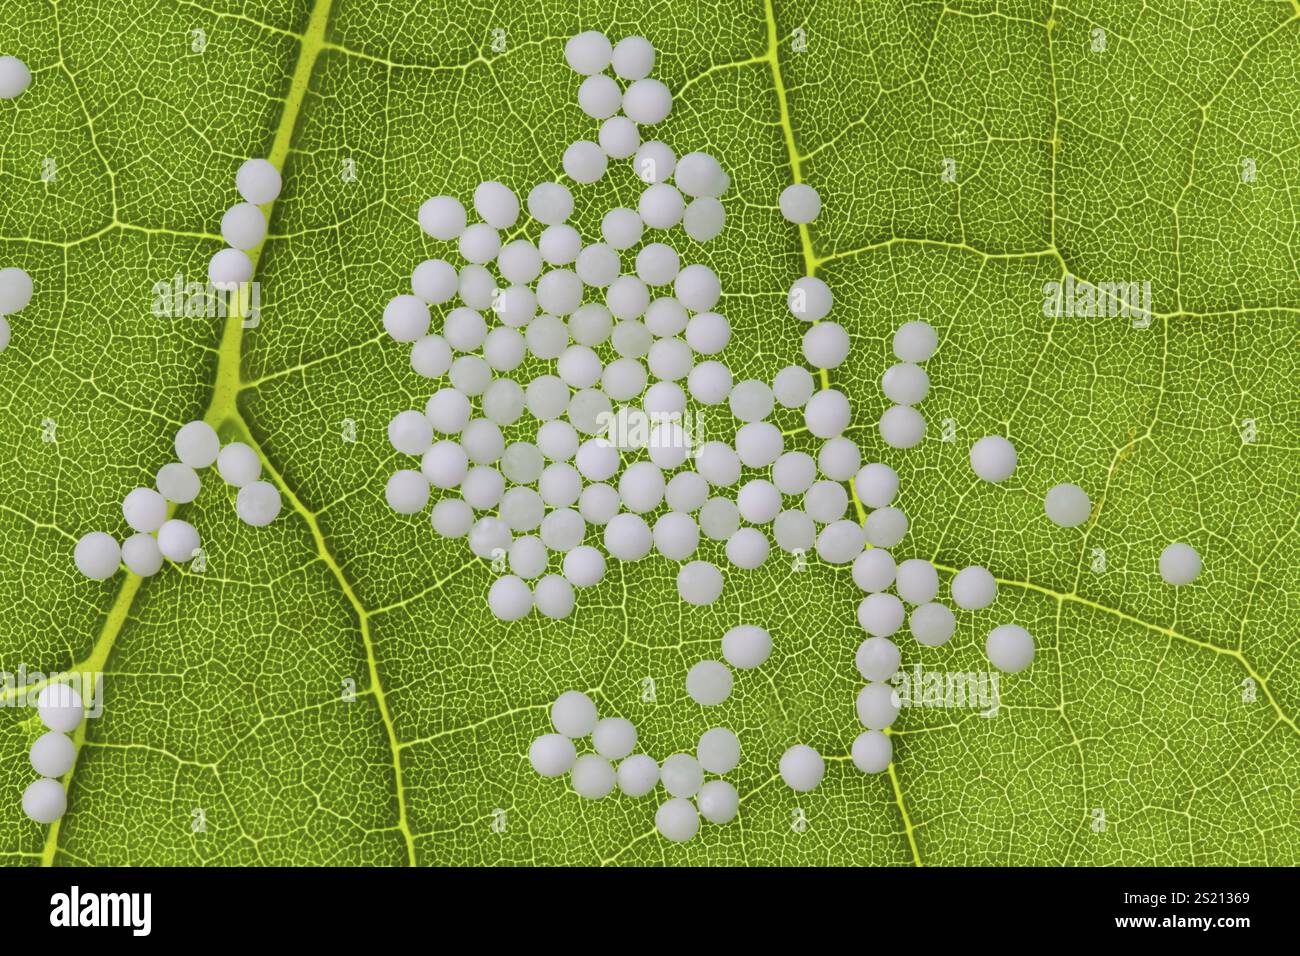
M 0 855 L 1296 862 L 1297 20 L 1294 4 L 1169 0 L 6 4 L 0 49 L 35 81 L 0 103 L 0 264 L 26 268 L 36 295 L 0 355 L 0 669 L 104 671 L 105 709 L 77 734 L 69 812 L 51 827 L 20 808 L 35 713 L 0 709 Z M 850 395 L 864 454 L 902 475 L 911 531 L 896 554 L 933 559 L 941 593 L 970 563 L 998 578 L 997 602 L 959 613 L 944 648 L 901 640 L 905 667 L 985 670 L 984 636 L 1008 620 L 1036 637 L 996 717 L 905 709 L 887 774 L 848 758 L 862 632 L 845 570 L 774 551 L 694 610 L 670 562 L 611 563 L 568 620 L 502 626 L 491 568 L 437 538 L 428 514 L 384 502 L 402 467 L 386 424 L 430 388 L 380 316 L 416 263 L 448 251 L 416 209 L 485 178 L 526 194 L 559 174 L 566 144 L 594 135 L 563 61 L 584 29 L 649 36 L 676 96 L 653 135 L 732 176 L 727 230 L 679 248 L 723 278 L 736 378 L 800 360 L 785 290 L 822 276 L 853 337 L 823 384 Z M 248 156 L 285 170 L 256 256 L 260 325 L 152 315 L 155 282 L 205 276 Z M 776 209 L 794 179 L 824 203 L 806 229 Z M 594 234 L 636 186 L 615 164 L 576 190 L 576 221 Z M 1044 284 L 1067 273 L 1150 281 L 1149 328 L 1045 317 Z M 909 319 L 941 345 L 930 434 L 898 453 L 874 423 Z M 281 518 L 240 524 L 208 472 L 179 510 L 203 535 L 203 572 L 77 575 L 77 537 L 125 533 L 122 496 L 195 418 L 259 447 Z M 815 450 L 798 416 L 777 421 Z M 734 423 L 707 425 L 727 437 Z M 1020 453 L 1004 485 L 966 463 L 987 433 Z M 1080 529 L 1043 514 L 1061 481 L 1092 496 Z M 1156 566 L 1174 540 L 1205 559 L 1180 589 Z M 712 545 L 702 557 L 724 561 Z M 772 631 L 771 659 L 698 708 L 685 671 L 742 622 Z M 660 760 L 733 727 L 740 818 L 670 845 L 654 797 L 582 801 L 538 778 L 528 744 L 569 688 L 632 719 Z M 828 758 L 812 793 L 776 774 L 794 743 Z

